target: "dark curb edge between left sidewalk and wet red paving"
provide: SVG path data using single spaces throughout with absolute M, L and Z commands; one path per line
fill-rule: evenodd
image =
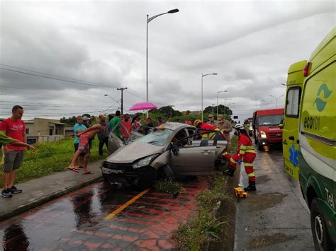
M 22 214 L 30 209 L 33 209 L 37 206 L 40 206 L 42 204 L 45 204 L 47 202 L 50 202 L 52 199 L 57 199 L 65 194 L 69 194 L 70 192 L 73 192 L 74 190 L 80 189 L 82 187 L 86 187 L 87 185 L 90 185 L 94 182 L 97 182 L 101 180 L 102 177 L 94 177 L 91 180 L 86 180 L 82 183 L 79 183 L 77 185 L 73 185 L 72 187 L 67 187 L 66 189 L 62 189 L 60 191 L 54 192 L 52 194 L 47 194 L 43 197 L 40 197 L 39 199 L 35 199 L 32 202 L 28 202 L 27 204 L 23 204 L 22 206 L 19 206 L 16 209 L 13 209 L 11 211 L 4 212 L 4 214 L 0 214 L 0 222 L 8 220 L 9 218 L 13 216 L 17 216 L 18 214 Z

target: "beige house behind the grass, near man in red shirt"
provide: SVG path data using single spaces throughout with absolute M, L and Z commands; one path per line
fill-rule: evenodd
M 28 144 L 44 141 L 58 141 L 65 136 L 65 125 L 58 119 L 35 117 L 26 120 L 26 136 Z

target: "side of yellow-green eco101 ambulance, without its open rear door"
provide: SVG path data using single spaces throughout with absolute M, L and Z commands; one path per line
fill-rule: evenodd
M 299 109 L 298 177 L 317 250 L 336 247 L 336 28 L 306 64 Z M 295 96 L 295 95 L 294 95 Z M 287 100 L 293 105 L 295 100 Z M 286 127 L 286 124 L 285 124 Z M 294 146 L 294 150 L 296 146 Z M 295 150 L 296 151 L 296 150 Z

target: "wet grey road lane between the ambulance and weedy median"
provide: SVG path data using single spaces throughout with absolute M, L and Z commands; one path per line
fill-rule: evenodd
M 281 149 L 258 151 L 257 191 L 237 204 L 235 250 L 315 250 L 300 187 L 284 170 Z M 240 185 L 247 185 L 242 170 Z

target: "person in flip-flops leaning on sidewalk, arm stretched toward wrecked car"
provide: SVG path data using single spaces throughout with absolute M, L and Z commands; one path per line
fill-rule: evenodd
M 79 169 L 76 167 L 77 158 L 81 153 L 84 153 L 84 166 L 83 166 L 83 174 L 89 175 L 93 172 L 89 171 L 87 168 L 87 164 L 89 163 L 90 157 L 90 146 L 89 139 L 93 138 L 101 129 L 106 129 L 106 127 L 101 126 L 101 124 L 95 124 L 94 126 L 85 129 L 84 131 L 78 131 L 77 135 L 79 136 L 79 145 L 78 150 L 72 156 L 72 161 L 70 165 L 67 167 L 69 170 L 72 170 L 76 173 L 79 173 Z

